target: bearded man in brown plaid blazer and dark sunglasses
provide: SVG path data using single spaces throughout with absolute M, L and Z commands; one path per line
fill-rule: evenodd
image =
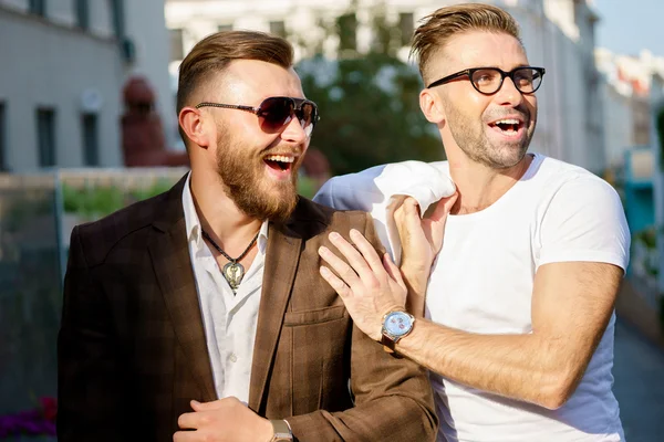
M 371 218 L 297 194 L 319 119 L 283 39 L 212 34 L 179 70 L 191 170 L 72 233 L 58 436 L 433 440 L 426 371 L 354 327 L 320 276 L 328 233 Z

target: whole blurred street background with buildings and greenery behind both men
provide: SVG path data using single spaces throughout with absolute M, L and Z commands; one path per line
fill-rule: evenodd
M 440 160 L 409 39 L 456 0 L 0 0 L 0 440 L 53 441 L 55 338 L 74 225 L 188 170 L 179 63 L 204 36 L 289 39 L 317 126 L 300 179 Z M 616 302 L 614 392 L 631 442 L 664 440 L 664 2 L 487 0 L 519 22 L 538 91 L 531 150 L 621 194 L 631 264 Z

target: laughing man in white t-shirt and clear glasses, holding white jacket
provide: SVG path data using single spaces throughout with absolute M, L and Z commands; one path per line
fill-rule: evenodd
M 508 13 L 439 9 L 413 52 L 448 160 L 333 178 L 315 198 L 371 211 L 403 280 L 360 232 L 331 236 L 321 274 L 364 333 L 430 370 L 439 441 L 623 440 L 611 391 L 630 249 L 620 198 L 580 167 L 527 154 L 544 70 Z

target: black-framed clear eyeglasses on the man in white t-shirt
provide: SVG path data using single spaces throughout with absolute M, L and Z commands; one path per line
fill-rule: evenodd
M 505 77 L 508 76 L 520 93 L 532 94 L 542 84 L 544 73 L 546 70 L 543 67 L 532 66 L 520 66 L 510 72 L 505 72 L 498 67 L 473 67 L 447 75 L 444 78 L 433 82 L 427 87 L 439 86 L 461 76 L 467 76 L 477 92 L 491 95 L 500 91 Z

